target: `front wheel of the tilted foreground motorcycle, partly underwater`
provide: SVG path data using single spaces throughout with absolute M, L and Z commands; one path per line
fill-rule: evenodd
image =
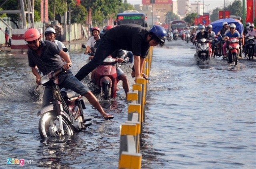
M 64 135 L 71 136 L 73 132 L 64 118 L 62 118 Z M 51 112 L 42 115 L 39 121 L 39 133 L 41 138 L 59 137 L 60 136 L 60 121 L 59 117 Z

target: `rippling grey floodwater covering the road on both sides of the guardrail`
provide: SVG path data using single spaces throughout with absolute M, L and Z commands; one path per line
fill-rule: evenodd
M 185 45 L 154 49 L 142 168 L 256 168 L 256 59 L 240 60 L 237 67 L 220 58 L 197 65 L 195 49 Z M 76 73 L 88 56 L 80 45 L 68 48 Z M 119 126 L 127 118 L 121 82 L 116 99 L 98 97 L 113 120 L 103 120 L 84 98 L 92 126 L 73 136 L 42 140 L 37 112 L 44 89 L 36 89 L 26 54 L 1 54 L 0 59 L 0 168 L 20 167 L 6 165 L 8 157 L 24 159 L 28 169 L 118 168 Z M 130 67 L 122 69 L 133 84 Z

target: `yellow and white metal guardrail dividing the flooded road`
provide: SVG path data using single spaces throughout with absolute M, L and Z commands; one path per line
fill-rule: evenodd
M 144 65 L 144 73 L 149 77 L 150 63 L 153 47 L 150 47 Z M 140 169 L 142 154 L 140 141 L 145 121 L 145 105 L 148 81 L 137 79 L 137 84 L 132 86 L 132 92 L 127 93 L 128 118 L 120 125 L 119 169 Z

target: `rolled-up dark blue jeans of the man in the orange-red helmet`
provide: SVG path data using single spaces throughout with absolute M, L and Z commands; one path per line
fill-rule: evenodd
M 68 71 L 64 75 L 61 75 L 59 79 L 61 79 L 62 81 L 59 84 L 60 88 L 69 88 L 70 90 L 73 90 L 74 92 L 82 96 L 84 96 L 84 94 L 90 91 L 80 81 L 78 81 L 76 77 L 74 77 L 71 71 Z M 52 90 L 49 86 L 45 86 L 42 107 L 49 105 L 50 102 L 52 101 L 53 101 Z

